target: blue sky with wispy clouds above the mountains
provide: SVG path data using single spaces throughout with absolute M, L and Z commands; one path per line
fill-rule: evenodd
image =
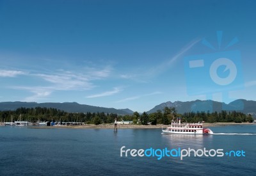
M 0 1 L 0 102 L 256 100 L 256 1 Z

